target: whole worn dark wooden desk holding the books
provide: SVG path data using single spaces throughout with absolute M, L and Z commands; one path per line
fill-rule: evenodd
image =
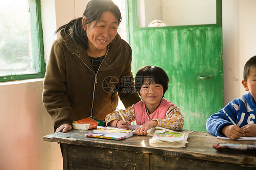
M 71 130 L 44 136 L 63 144 L 64 170 L 256 170 L 256 153 L 217 151 L 217 143 L 254 145 L 254 141 L 217 140 L 208 132 L 189 134 L 185 148 L 149 146 L 152 136 L 123 140 L 89 138 L 92 130 Z

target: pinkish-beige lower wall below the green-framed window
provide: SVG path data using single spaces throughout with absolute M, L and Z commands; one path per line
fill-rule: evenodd
M 0 83 L 0 169 L 61 170 L 60 146 L 42 103 L 42 79 Z

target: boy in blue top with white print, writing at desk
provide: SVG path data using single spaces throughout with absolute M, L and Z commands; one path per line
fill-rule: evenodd
M 237 140 L 241 136 L 256 136 L 256 55 L 246 62 L 242 84 L 249 92 L 232 100 L 207 119 L 206 130 L 210 134 L 226 136 L 231 140 Z M 236 125 L 231 123 L 223 110 Z

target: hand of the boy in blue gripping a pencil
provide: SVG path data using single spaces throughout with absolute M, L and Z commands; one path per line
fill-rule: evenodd
M 245 136 L 244 130 L 236 125 L 225 125 L 221 131 L 231 140 L 237 140 L 241 136 Z

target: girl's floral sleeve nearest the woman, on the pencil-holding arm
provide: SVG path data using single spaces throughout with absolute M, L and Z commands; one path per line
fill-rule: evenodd
M 128 107 L 126 110 L 120 110 L 120 112 L 123 115 L 123 118 L 125 120 L 135 120 L 135 115 L 134 115 L 134 107 L 133 105 Z M 122 118 L 120 117 L 119 113 L 117 111 L 114 111 L 110 114 L 108 114 L 105 118 L 106 125 L 108 126 L 108 123 L 113 121 L 113 120 L 121 120 Z

